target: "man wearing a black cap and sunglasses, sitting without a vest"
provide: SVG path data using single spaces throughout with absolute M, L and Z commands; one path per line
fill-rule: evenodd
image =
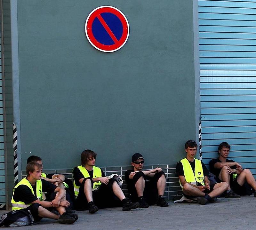
M 168 203 L 164 200 L 166 184 L 164 172 L 161 168 L 143 171 L 143 163 L 143 156 L 135 153 L 131 163 L 133 170 L 125 172 L 125 180 L 132 201 L 139 201 L 140 208 L 148 208 L 153 204 L 167 207 Z

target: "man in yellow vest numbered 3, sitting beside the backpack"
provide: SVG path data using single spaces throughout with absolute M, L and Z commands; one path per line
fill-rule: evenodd
M 42 218 L 56 219 L 63 224 L 73 224 L 78 216 L 75 213 L 66 213 L 69 202 L 66 201 L 65 189 L 57 187 L 52 183 L 41 180 L 42 166 L 36 162 L 28 163 L 26 167 L 27 177 L 23 178 L 14 188 L 12 195 L 12 210 L 30 210 L 35 221 Z M 52 194 L 43 201 L 43 192 Z M 56 208 L 60 215 L 49 211 Z

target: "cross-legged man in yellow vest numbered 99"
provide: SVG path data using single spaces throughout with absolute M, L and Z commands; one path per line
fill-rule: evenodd
M 215 203 L 216 196 L 222 194 L 228 187 L 226 182 L 210 184 L 209 171 L 204 163 L 195 158 L 197 144 L 194 140 L 185 143 L 187 156 L 176 166 L 176 177 L 180 179 L 180 186 L 188 199 L 197 197 L 198 204 Z

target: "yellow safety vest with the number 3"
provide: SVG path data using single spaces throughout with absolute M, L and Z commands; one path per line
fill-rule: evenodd
M 29 183 L 29 181 L 27 180 L 27 178 L 23 178 L 14 188 L 13 188 L 13 191 L 12 191 L 12 210 L 19 210 L 19 209 L 25 209 L 27 208 L 28 206 L 30 206 L 32 203 L 30 204 L 25 204 L 24 202 L 22 201 L 14 201 L 13 199 L 13 194 L 14 194 L 14 191 L 15 189 L 20 186 L 20 185 L 26 185 L 30 188 L 31 192 L 33 193 L 33 195 L 35 195 L 34 193 L 34 190 L 32 188 L 32 185 Z M 43 195 L 42 195 L 42 181 L 41 180 L 37 180 L 36 181 L 36 197 L 39 199 L 39 200 L 43 200 Z

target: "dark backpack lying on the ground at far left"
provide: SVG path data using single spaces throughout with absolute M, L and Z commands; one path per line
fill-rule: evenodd
M 6 227 L 18 227 L 31 225 L 34 222 L 34 218 L 29 210 L 13 210 L 5 213 L 0 219 L 0 226 Z

